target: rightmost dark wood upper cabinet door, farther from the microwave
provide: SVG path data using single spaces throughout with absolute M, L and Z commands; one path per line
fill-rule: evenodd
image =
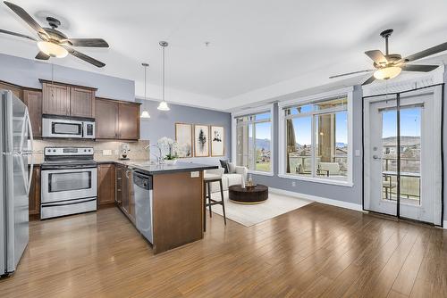
M 139 103 L 119 103 L 120 139 L 139 139 Z

